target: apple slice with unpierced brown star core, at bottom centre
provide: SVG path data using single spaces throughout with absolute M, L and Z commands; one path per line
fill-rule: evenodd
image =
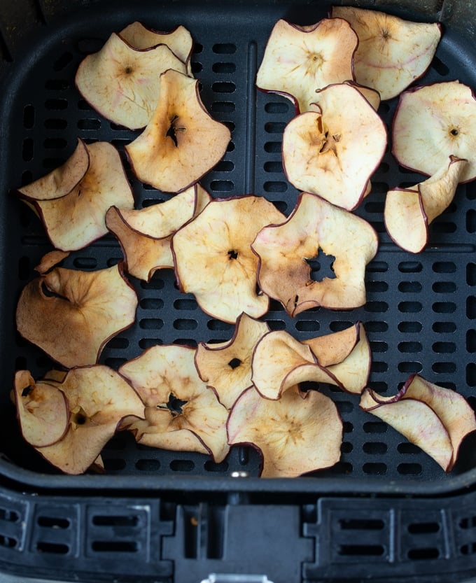
M 251 445 L 262 456 L 261 477 L 297 477 L 340 459 L 342 420 L 318 391 L 288 389 L 271 401 L 252 386 L 238 398 L 227 423 L 230 445 Z

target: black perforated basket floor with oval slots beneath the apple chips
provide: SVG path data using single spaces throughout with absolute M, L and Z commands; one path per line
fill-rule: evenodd
M 173 3 L 167 10 L 154 9 L 140 1 L 127 7 L 114 6 L 109 10 L 106 3 L 98 3 L 68 17 L 52 19 L 41 36 L 24 48 L 3 88 L 1 447 L 9 460 L 3 463 L 6 475 L 45 486 L 52 483 L 48 475 L 53 477 L 57 472 L 23 442 L 8 393 L 15 369 L 28 368 L 40 376 L 51 365 L 40 350 L 16 334 L 14 326 L 20 290 L 34 277 L 34 267 L 51 246 L 34 213 L 15 199 L 10 189 L 64 162 L 78 137 L 87 142 L 111 141 L 123 154 L 123 146 L 139 133 L 104 120 L 81 99 L 73 82 L 79 62 L 98 50 L 112 31 L 133 20 L 161 30 L 184 24 L 195 39 L 193 73 L 200 79 L 202 100 L 211 114 L 232 131 L 223 161 L 204 177 L 202 184 L 214 197 L 263 195 L 289 214 L 297 192 L 283 175 L 281 138 L 286 122 L 293 116 L 293 106 L 283 97 L 256 90 L 255 74 L 269 32 L 279 17 L 311 24 L 325 16 L 328 7 L 324 3 L 294 8 L 284 3 L 263 3 L 253 6 L 250 18 L 248 8 L 230 3 L 226 10 L 217 10 L 213 3 Z M 458 78 L 476 87 L 473 50 L 451 30 L 445 30 L 421 83 Z M 393 99 L 379 108 L 387 127 L 395 104 Z M 162 192 L 139 183 L 125 155 L 123 160 L 137 208 L 167 199 Z M 449 209 L 430 226 L 426 251 L 411 255 L 396 247 L 386 234 L 384 197 L 394 185 L 412 185 L 419 180 L 421 175 L 400 168 L 388 150 L 372 178 L 372 194 L 357 211 L 379 234 L 379 252 L 367 267 L 367 303 L 363 308 L 316 309 L 290 318 L 280 304 L 272 302 L 265 320 L 273 330 L 286 329 L 299 339 L 362 321 L 372 348 L 372 388 L 390 395 L 409 374 L 418 372 L 436 384 L 454 388 L 475 405 L 476 187 L 473 183 L 458 188 Z M 64 265 L 92 270 L 121 259 L 118 241 L 111 235 L 73 253 Z M 315 260 L 314 277 L 329 274 L 329 264 L 328 258 Z M 134 279 L 132 283 L 139 294 L 137 321 L 107 344 L 101 357 L 103 363 L 117 368 L 157 343 L 194 346 L 200 341 L 225 341 L 232 336 L 232 325 L 206 316 L 192 295 L 179 292 L 172 270 L 157 272 L 151 283 Z M 360 411 L 358 398 L 335 388 L 322 390 L 337 402 L 342 414 L 344 444 L 341 461 L 330 470 L 316 472 L 314 482 L 307 484 L 309 489 L 325 487 L 333 491 L 339 484 L 339 489 L 348 491 L 381 491 L 388 484 L 398 484 L 398 488 L 411 491 L 414 484 L 421 483 L 431 491 L 433 484 L 451 484 L 455 477 L 470 475 L 466 472 L 476 461 L 470 444 L 463 446 L 451 475 L 444 475 L 419 448 L 374 416 Z M 259 457 L 253 449 L 234 447 L 223 463 L 216 464 L 201 454 L 172 454 L 138 446 L 126 433 L 110 442 L 103 458 L 106 475 L 90 476 L 88 485 L 113 486 L 120 477 L 134 486 L 179 475 L 213 477 L 216 484 L 224 484 L 220 480 L 232 472 L 247 472 L 255 477 L 259 468 Z M 85 483 L 61 478 L 70 486 Z M 55 479 L 54 484 L 62 484 L 61 479 Z M 293 489 L 293 484 L 286 487 Z M 193 479 L 189 485 L 195 487 Z

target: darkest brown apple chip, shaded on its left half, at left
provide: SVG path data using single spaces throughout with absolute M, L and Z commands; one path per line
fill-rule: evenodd
M 27 283 L 18 332 L 57 363 L 97 362 L 106 342 L 134 322 L 137 294 L 118 265 L 94 272 L 55 267 Z

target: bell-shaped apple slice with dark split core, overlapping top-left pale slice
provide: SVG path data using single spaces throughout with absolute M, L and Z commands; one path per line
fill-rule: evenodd
M 159 84 L 151 121 L 125 150 L 139 180 L 163 192 L 180 192 L 221 160 L 231 133 L 205 109 L 196 79 L 170 69 Z

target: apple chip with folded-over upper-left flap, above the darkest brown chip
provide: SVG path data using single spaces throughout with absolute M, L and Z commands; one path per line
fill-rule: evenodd
M 86 144 L 79 139 L 62 166 L 17 192 L 62 251 L 83 248 L 106 234 L 104 217 L 113 204 L 134 206 L 118 150 L 104 141 Z

